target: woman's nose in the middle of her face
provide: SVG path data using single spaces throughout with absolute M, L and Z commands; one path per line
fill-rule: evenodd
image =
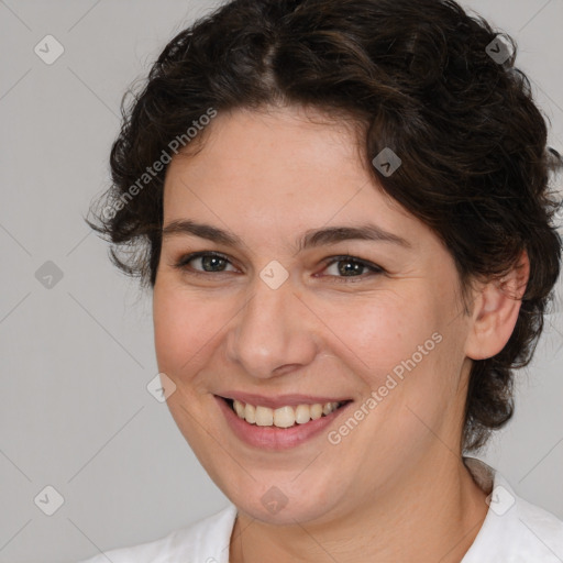
M 312 362 L 317 353 L 310 311 L 290 279 L 273 289 L 258 276 L 228 333 L 228 356 L 255 378 L 276 377 Z

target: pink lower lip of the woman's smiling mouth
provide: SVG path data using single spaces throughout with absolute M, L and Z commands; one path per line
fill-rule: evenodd
M 318 418 L 317 420 L 310 420 L 305 424 L 295 424 L 290 428 L 277 428 L 250 424 L 244 419 L 240 418 L 224 399 L 217 396 L 216 399 L 235 435 L 243 442 L 262 450 L 289 450 L 290 448 L 296 448 L 311 440 L 313 437 L 320 434 L 336 417 L 346 410 L 349 405 L 351 405 L 347 402 L 330 415 Z

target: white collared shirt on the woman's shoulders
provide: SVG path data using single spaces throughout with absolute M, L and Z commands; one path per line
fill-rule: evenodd
M 474 457 L 464 462 L 487 494 L 483 526 L 461 563 L 563 563 L 563 521 L 518 497 L 494 468 Z M 168 536 L 107 551 L 81 563 L 229 563 L 236 507 L 227 508 Z

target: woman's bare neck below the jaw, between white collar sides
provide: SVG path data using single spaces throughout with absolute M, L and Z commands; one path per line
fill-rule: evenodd
M 440 464 L 417 465 L 385 495 L 329 523 L 273 526 L 239 510 L 229 561 L 460 563 L 485 519 L 485 498 L 461 459 L 445 451 Z

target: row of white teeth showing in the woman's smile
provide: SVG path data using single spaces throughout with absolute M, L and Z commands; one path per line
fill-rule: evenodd
M 340 407 L 340 402 L 325 402 L 321 405 L 298 405 L 297 407 L 280 407 L 271 409 L 268 407 L 254 407 L 253 405 L 233 400 L 233 409 L 239 416 L 250 424 L 258 427 L 290 428 L 295 423 L 306 424 L 310 420 L 317 420 L 323 415 L 328 416 Z

